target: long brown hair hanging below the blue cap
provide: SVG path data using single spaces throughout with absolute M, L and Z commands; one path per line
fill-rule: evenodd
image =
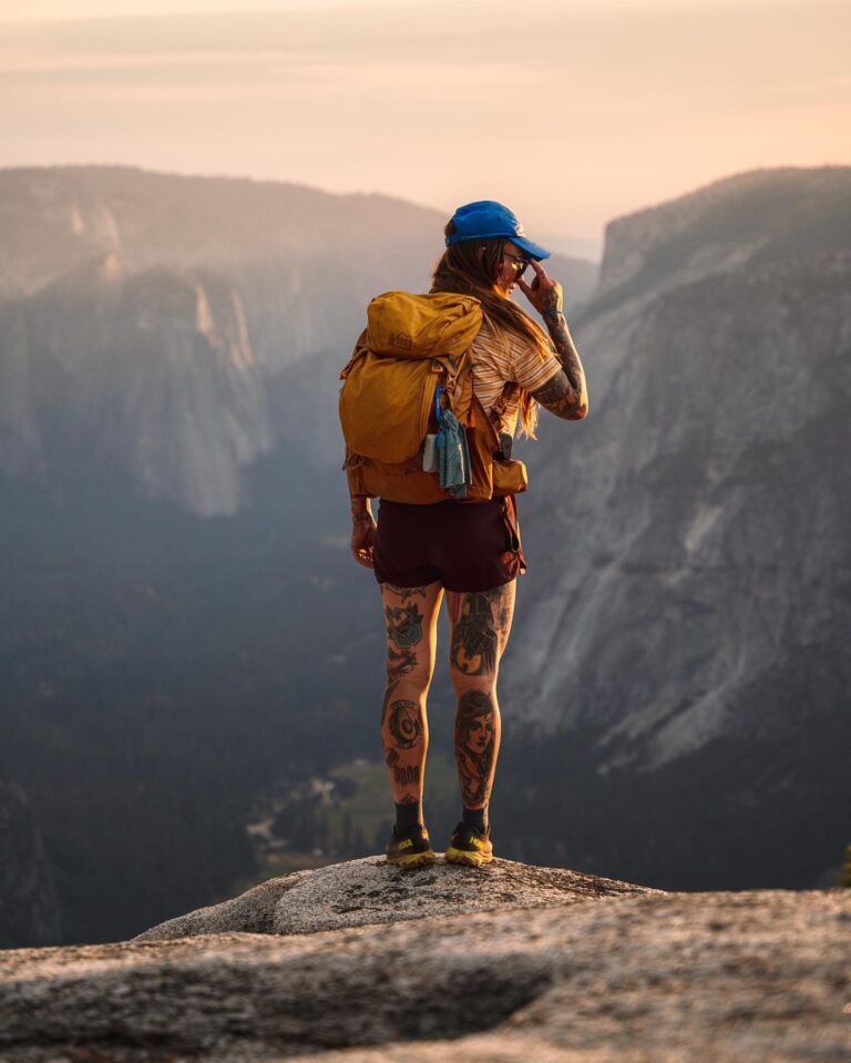
M 448 222 L 443 233 L 451 236 L 454 231 L 454 223 Z M 434 267 L 431 290 L 474 295 L 482 304 L 485 320 L 498 335 L 501 328 L 507 329 L 520 339 L 534 344 L 541 356 L 546 357 L 552 354 L 552 348 L 541 326 L 496 289 L 504 257 L 502 247 L 507 238 L 489 236 L 451 244 Z M 521 431 L 534 439 L 536 425 L 537 402 L 529 391 L 521 390 Z

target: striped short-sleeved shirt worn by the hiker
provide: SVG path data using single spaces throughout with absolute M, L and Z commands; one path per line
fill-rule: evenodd
M 473 340 L 472 351 L 475 359 L 473 389 L 486 413 L 506 384 L 519 384 L 524 391 L 536 391 L 562 368 L 555 355 L 543 356 L 531 340 L 521 339 L 506 328 L 496 330 L 486 319 Z M 514 435 L 519 409 L 520 391 L 515 389 L 505 407 L 500 431 Z

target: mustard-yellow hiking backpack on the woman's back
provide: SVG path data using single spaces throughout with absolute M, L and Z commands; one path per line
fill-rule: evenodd
M 481 325 L 479 300 L 449 292 L 387 292 L 369 304 L 367 328 L 340 372 L 344 469 L 352 494 L 420 504 L 451 497 L 437 472 L 423 470 L 427 436 L 437 431 L 439 385 L 441 406 L 451 408 L 466 435 L 471 482 L 464 501 L 526 489 L 523 462 L 502 460 L 498 427 L 473 391 L 471 345 Z M 498 403 L 496 426 L 504 405 Z

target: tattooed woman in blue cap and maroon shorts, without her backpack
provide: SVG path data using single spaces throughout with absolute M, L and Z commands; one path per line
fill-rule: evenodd
M 534 436 L 539 403 L 565 420 L 587 412 L 585 375 L 562 313 L 562 287 L 540 264 L 550 252 L 532 243 L 500 203 L 459 207 L 444 235 L 447 251 L 431 290 L 472 295 L 481 303 L 473 387 L 485 412 L 499 420 L 507 457 L 517 421 Z M 529 266 L 531 284 L 523 280 Z M 546 333 L 511 300 L 515 286 L 542 315 Z M 511 631 L 516 575 L 525 568 L 519 541 L 506 541 L 506 517 L 510 527 L 513 514 L 512 498 L 427 505 L 385 500 L 376 524 L 369 498 L 351 499 L 352 554 L 375 570 L 387 623 L 381 739 L 396 804 L 389 863 L 420 867 L 435 859 L 422 817 L 422 787 L 426 697 L 444 591 L 462 805 L 445 858 L 472 867 L 493 859 L 488 806 L 500 748 L 496 676 Z

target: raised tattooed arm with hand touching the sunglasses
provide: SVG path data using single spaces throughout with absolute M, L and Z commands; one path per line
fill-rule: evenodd
M 543 315 L 562 364 L 562 369 L 533 391 L 532 397 L 556 417 L 578 421 L 588 412 L 588 392 L 585 387 L 585 371 L 562 313 L 562 286 L 548 277 L 544 267 L 534 259 L 532 268 L 535 270 L 532 284 L 527 285 L 522 278 L 517 279 L 517 284 L 532 306 Z

